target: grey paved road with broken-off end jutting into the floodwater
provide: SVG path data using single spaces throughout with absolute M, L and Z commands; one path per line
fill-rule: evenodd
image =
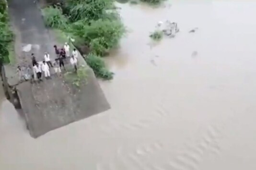
M 16 40 L 20 44 L 16 49 L 17 62 L 31 64 L 31 53 L 35 53 L 38 61 L 43 60 L 45 51 L 53 59 L 54 42 L 51 42 L 36 3 L 33 0 L 9 0 L 8 4 L 15 33 L 20 37 Z M 88 84 L 80 89 L 57 77 L 40 84 L 25 82 L 17 86 L 32 137 L 110 108 L 93 71 L 90 69 L 88 73 Z

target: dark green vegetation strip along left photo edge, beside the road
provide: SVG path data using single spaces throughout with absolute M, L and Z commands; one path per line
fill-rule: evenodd
M 12 44 L 13 34 L 9 25 L 7 2 L 0 0 L 0 63 L 10 63 L 9 47 Z

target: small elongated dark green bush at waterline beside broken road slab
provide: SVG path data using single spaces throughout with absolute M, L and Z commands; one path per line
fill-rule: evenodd
M 100 77 L 105 80 L 113 79 L 114 73 L 106 69 L 105 63 L 101 57 L 91 53 L 85 58 L 85 60 L 87 64 L 93 69 L 96 77 Z

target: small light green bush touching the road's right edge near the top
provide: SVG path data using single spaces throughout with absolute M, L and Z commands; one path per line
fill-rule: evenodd
M 58 7 L 47 7 L 43 10 L 44 21 L 48 27 L 57 29 L 66 29 L 68 19 L 62 14 L 62 10 Z

